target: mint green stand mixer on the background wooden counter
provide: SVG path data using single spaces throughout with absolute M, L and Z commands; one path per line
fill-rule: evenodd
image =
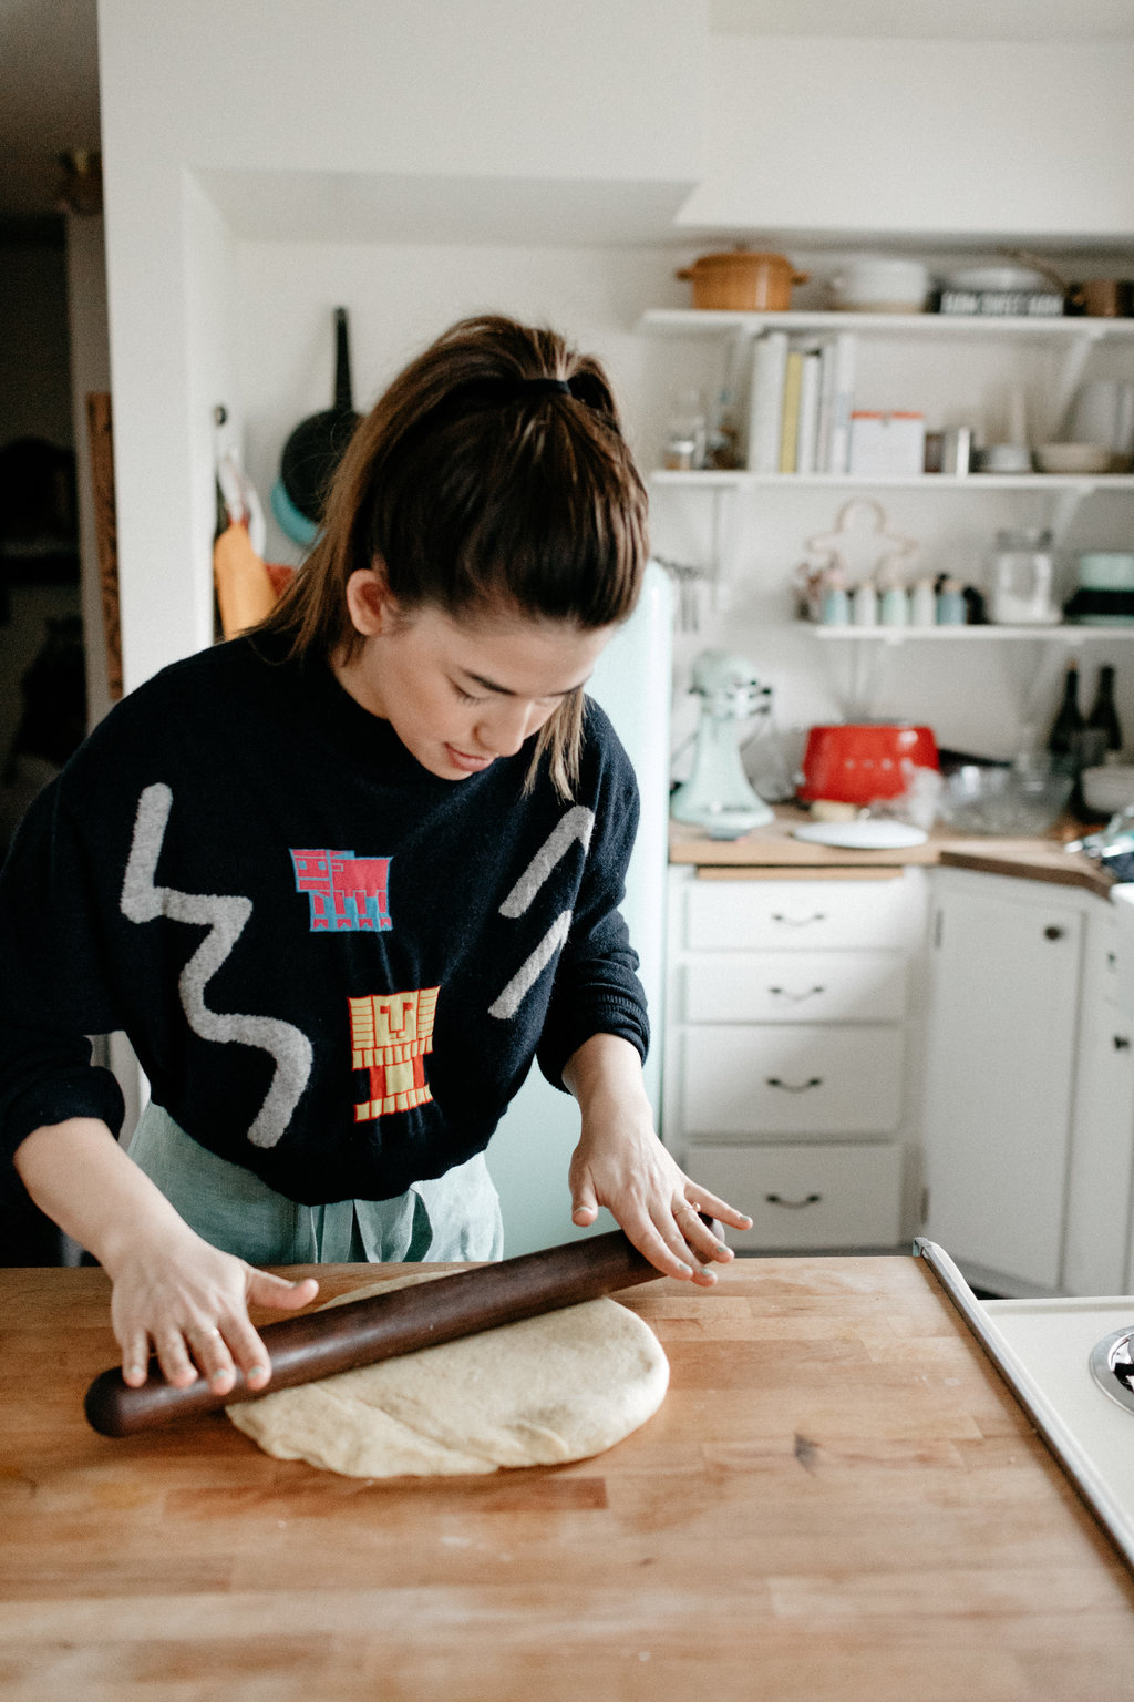
M 700 696 L 694 771 L 670 800 L 678 822 L 704 827 L 711 839 L 740 839 L 775 820 L 740 761 L 741 728 L 767 715 L 772 688 L 762 686 L 743 655 L 702 650 L 694 662 L 690 691 Z

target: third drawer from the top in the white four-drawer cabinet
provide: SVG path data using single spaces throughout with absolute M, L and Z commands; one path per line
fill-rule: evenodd
M 901 1115 L 899 1028 L 780 1023 L 682 1035 L 690 1135 L 889 1134 Z

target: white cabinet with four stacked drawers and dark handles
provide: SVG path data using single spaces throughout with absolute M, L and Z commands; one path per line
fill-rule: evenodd
M 670 870 L 663 1139 L 753 1217 L 738 1248 L 896 1246 L 923 871 L 714 873 Z

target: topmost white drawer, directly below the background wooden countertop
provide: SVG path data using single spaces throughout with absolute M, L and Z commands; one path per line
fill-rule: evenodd
M 694 951 L 899 948 L 913 899 L 904 880 L 695 880 L 685 945 Z

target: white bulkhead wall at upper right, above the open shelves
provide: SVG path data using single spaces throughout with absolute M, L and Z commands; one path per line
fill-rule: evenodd
M 682 223 L 1134 235 L 1134 44 L 716 36 Z

